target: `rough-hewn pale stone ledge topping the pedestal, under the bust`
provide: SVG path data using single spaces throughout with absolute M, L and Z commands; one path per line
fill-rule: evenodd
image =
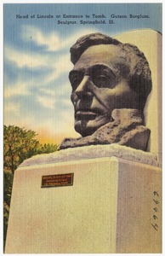
M 74 160 L 98 159 L 111 156 L 116 156 L 124 160 L 144 163 L 151 166 L 157 166 L 156 154 L 151 154 L 149 152 L 114 143 L 111 145 L 91 145 L 79 148 L 66 148 L 50 154 L 37 154 L 30 159 L 25 160 L 20 167 L 37 166 Z

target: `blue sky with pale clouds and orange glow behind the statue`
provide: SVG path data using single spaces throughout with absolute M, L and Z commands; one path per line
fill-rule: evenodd
M 60 143 L 63 137 L 77 137 L 71 105 L 70 47 L 90 32 L 115 36 L 121 32 L 151 28 L 162 32 L 161 3 L 29 3 L 4 4 L 4 125 L 18 125 L 37 131 L 41 142 Z M 79 20 L 105 15 L 105 25 L 80 25 Z M 18 19 L 16 15 L 28 15 Z M 31 18 L 35 15 L 35 18 Z M 41 19 L 37 15 L 53 15 Z M 56 16 L 60 15 L 60 18 Z M 72 19 L 77 24 L 59 25 L 62 15 L 89 15 Z M 127 15 L 128 19 L 111 18 Z M 149 15 L 131 19 L 129 15 Z M 114 20 L 115 24 L 108 24 Z

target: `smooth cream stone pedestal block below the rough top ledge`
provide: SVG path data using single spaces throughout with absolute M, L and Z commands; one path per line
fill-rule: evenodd
M 5 253 L 161 253 L 159 167 L 45 157 L 15 172 Z M 72 184 L 42 188 L 42 177 L 71 173 Z

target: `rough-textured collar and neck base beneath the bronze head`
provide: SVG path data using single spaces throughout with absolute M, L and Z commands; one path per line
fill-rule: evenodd
M 101 126 L 91 136 L 65 138 L 59 149 L 118 143 L 146 150 L 150 130 L 143 125 L 137 109 L 114 109 L 111 117 L 112 122 Z

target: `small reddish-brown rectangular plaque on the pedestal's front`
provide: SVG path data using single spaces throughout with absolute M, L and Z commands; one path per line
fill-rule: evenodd
M 73 185 L 74 173 L 42 176 L 42 188 L 63 187 Z

